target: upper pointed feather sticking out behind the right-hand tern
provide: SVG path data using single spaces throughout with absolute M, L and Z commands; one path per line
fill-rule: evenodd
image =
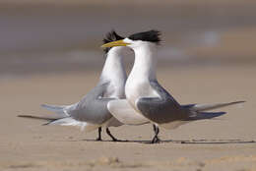
M 214 110 L 217 108 L 226 107 L 229 105 L 244 103 L 244 102 L 245 101 L 233 101 L 233 102 L 229 102 L 229 103 L 194 104 L 194 105 L 185 105 L 185 106 L 189 106 L 189 109 L 194 112 L 203 112 L 203 111 Z

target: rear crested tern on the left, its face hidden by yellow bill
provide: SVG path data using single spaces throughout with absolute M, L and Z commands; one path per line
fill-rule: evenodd
M 123 37 L 112 30 L 106 34 L 103 43 L 119 39 L 123 39 Z M 44 125 L 78 126 L 86 132 L 98 129 L 96 141 L 101 141 L 101 127 L 105 127 L 106 133 L 111 137 L 112 141 L 118 141 L 111 135 L 108 128 L 118 127 L 123 124 L 112 117 L 106 105 L 113 99 L 125 98 L 124 85 L 127 75 L 122 58 L 125 48 L 107 47 L 104 49 L 106 59 L 99 82 L 81 101 L 72 105 L 41 105 L 47 110 L 57 113 L 59 118 L 52 119 L 50 117 L 31 115 L 19 115 L 19 117 L 49 121 Z

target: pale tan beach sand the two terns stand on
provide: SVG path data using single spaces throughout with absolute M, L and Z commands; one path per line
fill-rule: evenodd
M 160 83 L 180 103 L 247 102 L 224 108 L 220 119 L 160 129 L 158 144 L 147 143 L 150 125 L 110 129 L 130 142 L 110 142 L 105 134 L 95 142 L 96 132 L 16 117 L 48 113 L 41 103 L 78 101 L 96 85 L 98 72 L 0 80 L 0 170 L 256 170 L 255 65 L 159 70 Z

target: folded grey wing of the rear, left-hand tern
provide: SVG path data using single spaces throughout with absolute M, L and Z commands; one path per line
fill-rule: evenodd
M 108 84 L 96 85 L 76 106 L 68 111 L 70 116 L 78 121 L 92 124 L 103 124 L 112 115 L 107 110 L 107 103 L 113 98 L 102 98 Z

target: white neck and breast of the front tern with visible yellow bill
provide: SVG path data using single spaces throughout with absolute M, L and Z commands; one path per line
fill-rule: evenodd
M 133 69 L 125 85 L 125 95 L 128 101 L 136 108 L 135 102 L 141 97 L 159 96 L 151 86 L 150 81 L 156 80 L 157 60 L 153 58 L 156 48 L 152 43 L 140 44 L 135 51 Z

